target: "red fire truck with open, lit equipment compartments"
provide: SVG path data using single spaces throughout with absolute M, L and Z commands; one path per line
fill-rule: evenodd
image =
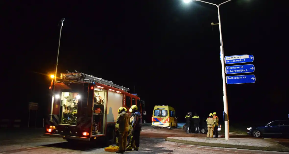
M 111 144 L 118 108 L 126 107 L 128 112 L 137 105 L 140 113 L 144 108 L 144 101 L 128 93 L 128 88 L 82 72 L 61 73 L 54 88 L 53 112 L 46 120 L 44 135 L 67 141 L 103 138 Z

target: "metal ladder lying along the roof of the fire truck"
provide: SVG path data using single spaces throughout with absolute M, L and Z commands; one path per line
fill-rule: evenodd
M 84 83 L 98 82 L 100 84 L 105 84 L 110 87 L 121 89 L 125 92 L 129 91 L 129 88 L 125 88 L 123 86 L 114 84 L 112 81 L 104 80 L 102 78 L 97 78 L 95 76 L 84 74 L 82 72 L 77 72 L 76 70 L 74 70 L 74 72 L 66 71 L 66 73 L 61 73 L 60 78 L 69 82 L 84 82 Z

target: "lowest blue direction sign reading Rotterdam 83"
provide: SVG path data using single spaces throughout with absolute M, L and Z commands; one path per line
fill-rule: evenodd
M 227 76 L 227 84 L 255 83 L 255 75 Z

